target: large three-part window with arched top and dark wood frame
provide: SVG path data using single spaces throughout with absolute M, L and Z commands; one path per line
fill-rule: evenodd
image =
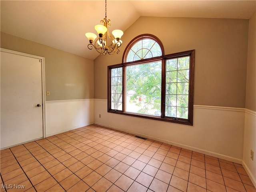
M 162 42 L 142 34 L 108 66 L 108 112 L 192 125 L 194 50 L 164 55 Z

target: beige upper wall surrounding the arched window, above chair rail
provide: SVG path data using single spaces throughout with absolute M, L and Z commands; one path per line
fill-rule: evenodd
M 194 104 L 245 107 L 248 20 L 140 17 L 124 32 L 121 53 L 94 60 L 94 98 L 107 98 L 107 66 L 122 62 L 134 37 L 150 33 L 165 54 L 195 49 Z

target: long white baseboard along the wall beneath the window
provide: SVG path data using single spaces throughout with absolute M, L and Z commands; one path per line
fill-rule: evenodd
M 105 125 L 105 124 L 100 124 L 98 122 L 94 122 L 94 124 L 104 126 L 104 127 L 108 127 L 108 128 L 114 129 L 114 130 L 127 132 L 127 133 L 130 133 L 130 134 L 134 134 L 136 136 L 140 136 L 140 137 L 143 137 L 143 138 L 156 140 L 156 141 L 159 141 L 159 142 L 163 142 L 163 143 L 174 145 L 174 146 L 181 147 L 181 148 L 184 148 L 184 149 L 192 150 L 192 151 L 199 152 L 199 153 L 202 153 L 202 154 L 210 155 L 210 156 L 213 156 L 213 157 L 216 157 L 216 158 L 221 158 L 221 159 L 231 161 L 231 162 L 235 162 L 235 163 L 238 163 L 238 164 L 242 164 L 242 162 L 243 162 L 241 159 L 238 159 L 238 158 L 233 158 L 233 157 L 226 156 L 226 155 L 223 155 L 223 154 L 218 154 L 218 153 L 215 153 L 215 152 L 202 150 L 202 149 L 199 149 L 199 148 L 183 145 L 183 144 L 180 144 L 180 143 L 164 140 L 164 139 L 161 139 L 161 138 L 156 138 L 156 137 L 152 137 L 152 136 L 149 136 L 149 135 L 140 134 L 140 133 L 137 133 L 137 132 L 132 132 L 130 130 L 124 130 L 124 129 L 120 129 L 120 128 L 117 128 L 117 127 L 108 126 L 108 125 Z

